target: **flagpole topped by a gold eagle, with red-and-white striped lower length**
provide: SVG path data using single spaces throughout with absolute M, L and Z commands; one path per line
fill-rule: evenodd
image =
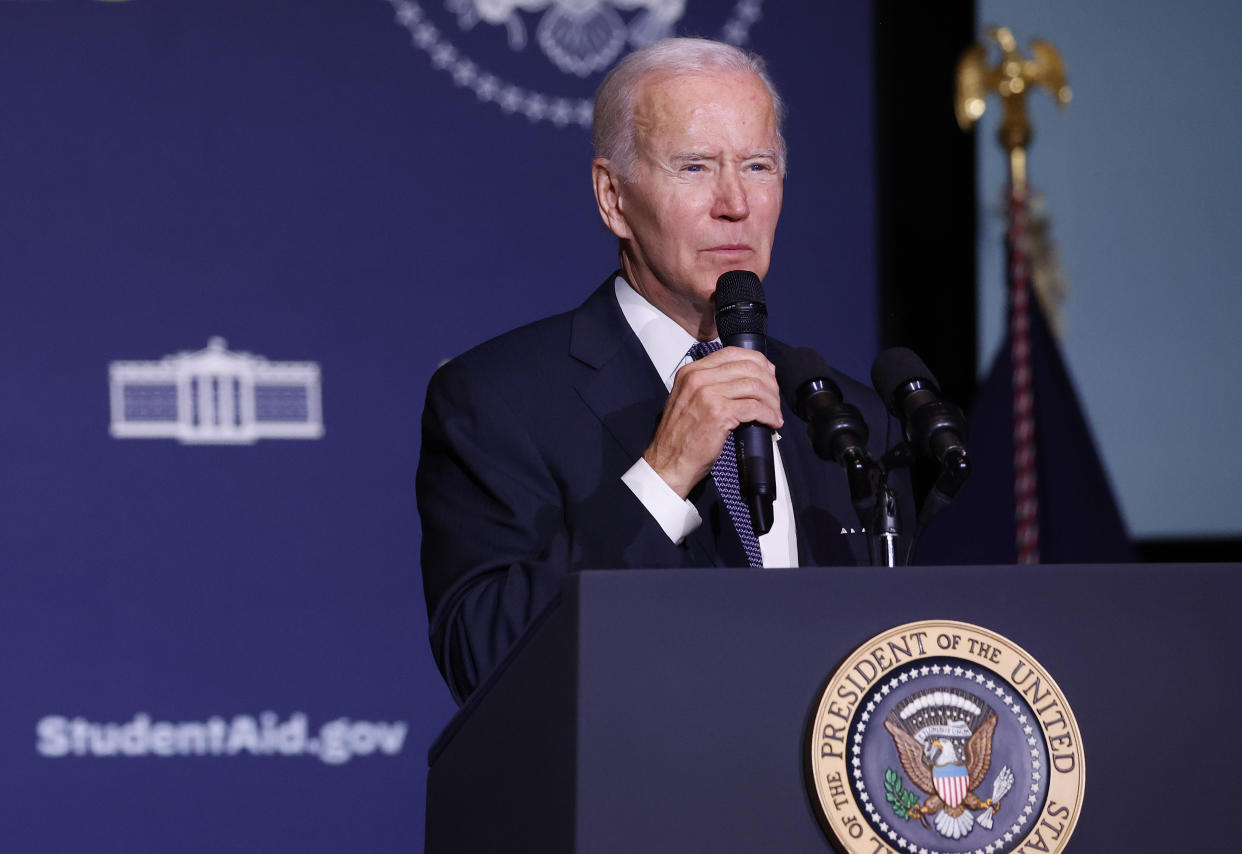
M 1030 259 L 1030 184 L 1026 150 L 1031 143 L 1031 122 L 1026 112 L 1026 93 L 1033 86 L 1048 89 L 1057 103 L 1069 103 L 1064 65 L 1057 48 L 1041 40 L 1031 41 L 1031 60 L 1025 60 L 1007 27 L 989 30 L 989 37 L 1001 50 L 995 66 L 987 65 L 987 46 L 971 45 L 958 62 L 958 94 L 954 109 L 958 124 L 969 130 L 984 114 L 987 94 L 1001 99 L 1001 124 L 997 142 L 1009 154 L 1009 192 L 1005 236 L 1006 279 L 1009 285 L 1010 359 L 1013 392 L 1013 521 L 1018 564 L 1040 562 L 1040 503 L 1036 474 L 1038 453 L 1035 431 L 1035 384 L 1031 372 L 1031 259 Z M 1038 309 L 1036 309 L 1038 310 Z

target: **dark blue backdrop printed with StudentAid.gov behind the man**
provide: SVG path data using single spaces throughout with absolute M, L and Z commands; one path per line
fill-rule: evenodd
M 4 850 L 421 847 L 422 393 L 615 266 L 580 120 L 642 38 L 769 58 L 773 334 L 866 376 L 868 5 L 678 5 L 0 0 Z

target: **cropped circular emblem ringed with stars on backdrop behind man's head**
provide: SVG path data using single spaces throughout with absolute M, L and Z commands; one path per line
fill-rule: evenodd
M 532 122 L 591 127 L 591 96 L 602 72 L 628 48 L 688 32 L 717 34 L 741 45 L 763 12 L 763 0 L 388 0 L 396 21 L 410 31 L 415 47 L 431 58 L 456 86 L 471 89 L 483 102 Z M 687 17 L 687 7 L 693 14 Z M 715 10 L 713 12 L 713 9 Z M 714 20 L 713 20 L 714 17 Z M 687 19 L 683 21 L 683 19 Z M 486 26 L 478 26 L 483 24 Z M 496 53 L 489 30 L 504 27 L 509 50 L 519 56 L 542 53 L 544 63 L 514 63 Z M 455 31 L 457 42 L 447 32 Z M 530 31 L 538 51 L 529 51 Z M 484 66 L 468 56 L 492 51 Z M 549 66 L 559 72 L 558 92 L 548 91 Z M 504 68 L 498 71 L 497 68 Z M 517 71 L 514 71 L 514 68 Z M 519 86 L 509 78 L 538 81 Z M 592 79 L 586 79 L 591 77 Z

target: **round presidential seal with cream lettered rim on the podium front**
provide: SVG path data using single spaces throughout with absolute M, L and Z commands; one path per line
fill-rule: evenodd
M 1082 809 L 1082 737 L 1061 689 L 969 623 L 909 623 L 861 645 L 828 680 L 809 748 L 846 854 L 1054 853 Z

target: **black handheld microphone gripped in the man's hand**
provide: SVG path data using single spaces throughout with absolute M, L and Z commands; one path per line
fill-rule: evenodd
M 768 353 L 768 303 L 759 277 L 745 269 L 733 269 L 715 282 L 715 329 L 724 346 Z M 773 526 L 773 500 L 776 498 L 776 467 L 773 462 L 773 431 L 766 425 L 748 422 L 733 431 L 738 453 L 738 482 L 741 499 L 750 509 L 755 536 Z

